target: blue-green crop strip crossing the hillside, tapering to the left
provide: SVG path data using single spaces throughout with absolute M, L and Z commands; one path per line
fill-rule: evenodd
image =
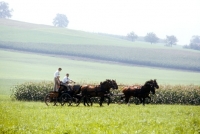
M 1 44 L 0 47 L 40 54 L 76 56 L 128 65 L 200 71 L 200 52 L 102 45 Z M 55 51 L 56 50 L 56 51 Z M 187 53 L 187 54 L 186 54 Z M 172 60 L 173 59 L 173 60 Z

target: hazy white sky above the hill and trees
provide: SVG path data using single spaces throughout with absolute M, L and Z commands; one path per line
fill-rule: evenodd
M 53 26 L 65 14 L 68 29 L 126 36 L 153 32 L 179 45 L 200 36 L 200 0 L 2 0 L 13 9 L 12 20 Z

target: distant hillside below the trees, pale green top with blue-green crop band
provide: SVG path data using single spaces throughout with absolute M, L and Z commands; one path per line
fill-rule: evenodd
M 127 65 L 200 71 L 200 52 L 0 19 L 0 48 Z

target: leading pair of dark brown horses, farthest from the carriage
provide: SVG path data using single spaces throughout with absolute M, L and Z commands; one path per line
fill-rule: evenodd
M 145 98 L 149 98 L 151 100 L 151 97 L 149 96 L 150 92 L 152 94 L 155 94 L 155 88 L 159 88 L 156 80 L 149 80 L 147 81 L 143 86 L 127 86 L 122 89 L 122 92 L 124 96 L 121 97 L 121 100 L 125 98 L 125 102 L 129 103 L 129 99 L 131 96 L 137 97 L 143 105 L 145 105 Z

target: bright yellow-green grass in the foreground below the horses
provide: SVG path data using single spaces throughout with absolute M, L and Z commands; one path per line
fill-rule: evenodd
M 200 107 L 180 105 L 52 106 L 0 96 L 0 133 L 198 134 Z

